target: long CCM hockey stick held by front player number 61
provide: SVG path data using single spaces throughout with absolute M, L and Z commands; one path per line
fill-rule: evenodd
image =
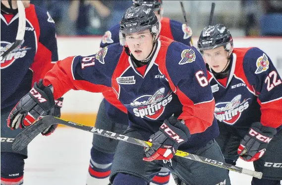
M 95 128 L 95 127 L 92 127 L 92 126 L 86 126 L 86 125 L 74 123 L 74 122 L 71 122 L 71 121 L 65 121 L 65 120 L 62 120 L 60 118 L 56 118 L 56 117 L 53 117 L 53 116 L 46 116 L 46 117 L 42 118 L 41 120 L 33 123 L 31 126 L 27 127 L 20 134 L 18 134 L 16 136 L 16 138 L 14 139 L 13 143 L 12 143 L 12 149 L 14 151 L 20 151 L 20 150 L 24 149 L 25 147 L 27 147 L 27 145 L 38 134 L 40 134 L 45 128 L 47 128 L 48 126 L 51 126 L 52 124 L 63 124 L 63 125 L 66 125 L 66 126 L 74 127 L 74 128 L 80 129 L 80 130 L 89 131 L 89 132 L 92 132 L 92 133 L 95 133 L 95 134 L 98 134 L 98 135 L 102 135 L 102 136 L 105 136 L 105 137 L 110 137 L 110 138 L 113 138 L 113 139 L 129 142 L 129 143 L 136 144 L 136 145 L 143 146 L 143 147 L 151 147 L 152 146 L 152 143 L 148 142 L 148 141 L 135 139 L 133 137 L 128 137 L 128 136 L 117 134 L 117 133 L 114 133 L 114 132 L 111 132 L 111 131 Z M 208 159 L 208 158 L 201 157 L 201 156 L 194 155 L 194 154 L 190 154 L 190 153 L 187 153 L 187 152 L 177 150 L 175 155 L 179 156 L 179 157 L 191 159 L 191 160 L 194 160 L 194 161 L 198 161 L 198 162 L 201 162 L 201 163 L 207 163 L 207 164 L 210 164 L 210 165 L 214 165 L 214 166 L 224 168 L 224 169 L 227 169 L 227 170 L 231 170 L 231 171 L 234 171 L 234 172 L 238 172 L 238 173 L 241 173 L 241 174 L 253 176 L 253 177 L 256 177 L 258 179 L 262 178 L 261 172 L 256 172 L 256 171 L 244 169 L 244 168 L 241 168 L 241 167 L 236 167 L 236 166 L 229 165 L 229 164 L 226 164 L 226 163 L 223 163 L 223 162 L 220 162 L 220 161 Z

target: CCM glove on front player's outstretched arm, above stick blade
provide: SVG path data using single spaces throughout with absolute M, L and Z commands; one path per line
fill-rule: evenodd
M 9 114 L 7 124 L 11 129 L 24 128 L 48 114 L 55 105 L 53 93 L 43 85 L 43 80 L 34 83 L 33 88 L 17 103 Z

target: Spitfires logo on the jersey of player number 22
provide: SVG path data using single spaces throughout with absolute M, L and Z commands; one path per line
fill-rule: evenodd
M 239 120 L 241 113 L 249 107 L 248 100 L 250 98 L 241 101 L 241 97 L 239 94 L 230 102 L 217 103 L 214 113 L 216 119 L 227 124 L 235 124 Z

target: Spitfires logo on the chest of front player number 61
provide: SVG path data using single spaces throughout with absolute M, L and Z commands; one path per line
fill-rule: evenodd
M 153 96 L 143 95 L 136 98 L 130 104 L 133 108 L 134 115 L 141 118 L 157 120 L 165 111 L 166 106 L 172 100 L 172 92 L 165 96 L 165 88 L 160 88 Z

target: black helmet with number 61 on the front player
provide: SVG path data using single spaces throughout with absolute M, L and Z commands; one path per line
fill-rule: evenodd
M 125 46 L 125 34 L 149 29 L 153 34 L 154 43 L 159 37 L 159 22 L 152 8 L 147 5 L 128 8 L 119 23 L 120 45 Z

